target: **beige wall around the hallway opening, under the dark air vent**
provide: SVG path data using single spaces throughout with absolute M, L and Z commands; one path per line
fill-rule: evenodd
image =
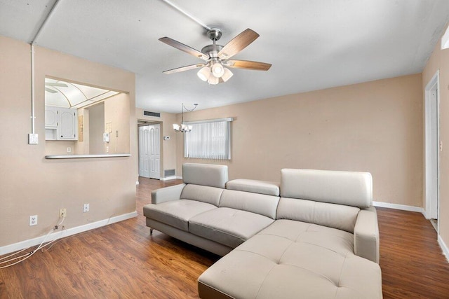
M 138 120 L 161 124 L 163 136 L 169 136 L 170 140 L 163 140 L 161 136 L 161 178 L 165 169 L 176 169 L 176 133 L 173 131 L 173 123 L 176 123 L 176 114 L 161 112 L 161 117 L 144 116 L 144 109 L 136 108 L 135 115 Z M 136 126 L 137 134 L 137 126 Z

